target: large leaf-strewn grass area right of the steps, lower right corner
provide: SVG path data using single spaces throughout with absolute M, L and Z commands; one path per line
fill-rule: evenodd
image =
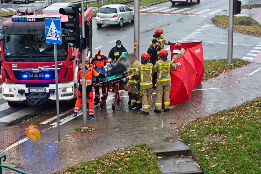
M 209 173 L 261 173 L 261 98 L 197 118 L 179 136 Z M 207 140 L 216 137 L 220 141 Z

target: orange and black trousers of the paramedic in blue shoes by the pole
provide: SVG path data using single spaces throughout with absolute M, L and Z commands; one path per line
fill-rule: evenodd
M 87 85 L 86 86 L 86 91 L 87 91 L 87 101 L 89 103 L 89 115 L 93 115 L 93 91 L 92 91 L 92 85 Z M 77 92 L 77 101 L 75 103 L 75 108 L 74 112 L 78 113 L 80 110 L 80 106 L 82 103 L 82 84 L 79 85 L 78 87 L 78 92 Z

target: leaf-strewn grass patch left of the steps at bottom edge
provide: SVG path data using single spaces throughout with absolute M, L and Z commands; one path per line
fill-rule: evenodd
M 111 154 L 83 162 L 77 166 L 69 167 L 56 174 L 109 174 L 109 173 L 153 173 L 161 174 L 157 158 L 150 150 L 149 145 L 139 144 L 136 146 L 119 149 Z

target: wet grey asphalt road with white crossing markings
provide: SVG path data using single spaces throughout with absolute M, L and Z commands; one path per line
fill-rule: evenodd
M 242 4 L 246 2 L 242 1 Z M 12 2 L 4 5 L 12 6 Z M 18 5 L 18 4 L 17 4 Z M 3 5 L 2 5 L 3 7 Z M 148 8 L 163 9 L 174 13 L 189 13 L 198 15 L 177 15 L 177 14 L 156 14 L 147 13 Z M 157 7 L 157 8 L 156 8 Z M 171 10 L 176 8 L 175 10 Z M 164 31 L 163 36 L 171 42 L 194 42 L 203 41 L 204 59 L 210 58 L 227 58 L 227 30 L 216 27 L 212 23 L 213 16 L 204 16 L 204 14 L 222 14 L 228 10 L 227 0 L 201 0 L 200 3 L 194 2 L 193 5 L 177 4 L 172 5 L 170 2 L 153 5 L 142 8 L 144 13 L 140 13 L 140 55 L 146 52 L 150 39 L 157 28 Z M 178 12 L 177 12 L 178 11 Z M 1 19 L 3 21 L 5 19 Z M 120 39 L 128 52 L 133 51 L 133 24 L 125 23 L 122 28 L 111 25 L 97 27 L 95 18 L 93 19 L 93 55 L 101 49 L 108 56 L 110 49 L 115 46 L 116 40 Z M 250 50 L 259 44 L 260 38 L 248 34 L 234 32 L 233 57 L 242 59 Z M 100 47 L 100 48 L 99 48 Z M 169 46 L 165 46 L 170 54 Z M 2 92 L 2 90 L 1 90 Z M 2 96 L 2 93 L 1 93 Z M 0 119 L 7 117 L 4 122 L 0 121 L 0 129 L 27 121 L 33 117 L 42 115 L 46 111 L 55 109 L 55 104 L 46 104 L 41 108 L 29 107 L 28 105 L 19 104 L 18 107 L 9 107 L 7 102 L 0 96 Z M 63 104 L 62 107 L 66 107 Z M 70 110 L 73 107 L 70 106 Z M 13 115 L 20 115 L 13 117 Z M 9 120 L 8 120 L 9 119 Z M 12 121 L 12 119 L 14 119 Z

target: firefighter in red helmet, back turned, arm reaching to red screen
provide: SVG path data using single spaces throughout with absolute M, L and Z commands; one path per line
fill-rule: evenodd
M 154 65 L 154 73 L 158 72 L 156 83 L 156 102 L 154 112 L 161 113 L 162 91 L 164 90 L 164 112 L 169 111 L 169 92 L 171 88 L 170 69 L 176 71 L 176 65 L 168 60 L 168 51 L 160 51 L 161 60 Z

